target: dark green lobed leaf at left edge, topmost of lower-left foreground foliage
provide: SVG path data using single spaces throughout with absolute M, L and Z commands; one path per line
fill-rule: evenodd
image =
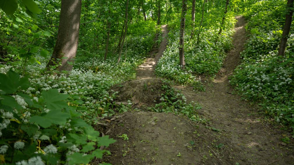
M 15 93 L 19 89 L 25 90 L 28 87 L 28 77 L 20 79 L 19 74 L 12 70 L 9 70 L 7 75 L 0 73 L 0 90 L 3 90 L 6 94 Z

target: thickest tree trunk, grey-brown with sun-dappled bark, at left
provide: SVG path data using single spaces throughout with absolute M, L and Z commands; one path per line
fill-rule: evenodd
M 62 0 L 56 44 L 47 67 L 56 65 L 57 58 L 61 59 L 58 70 L 71 71 L 73 68 L 81 19 L 81 0 Z

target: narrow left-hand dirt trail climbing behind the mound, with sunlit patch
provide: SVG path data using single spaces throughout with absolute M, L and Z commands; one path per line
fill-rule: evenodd
M 153 72 L 155 70 L 155 67 L 159 58 L 161 58 L 167 45 L 167 33 L 168 33 L 167 26 L 162 25 L 161 29 L 162 29 L 161 31 L 163 32 L 162 34 L 163 40 L 161 41 L 161 44 L 158 50 L 151 51 L 150 52 L 151 57 L 147 58 L 146 62 L 137 68 L 137 79 L 148 79 L 148 78 L 155 77 Z M 158 53 L 156 53 L 157 51 Z

